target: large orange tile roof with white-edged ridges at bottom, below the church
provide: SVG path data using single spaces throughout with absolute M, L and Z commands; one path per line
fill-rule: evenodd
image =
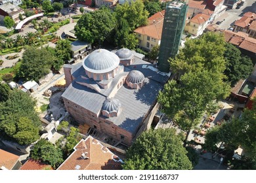
M 99 141 L 89 136 L 81 139 L 75 151 L 58 167 L 57 170 L 120 170 L 123 161 Z M 86 158 L 82 157 L 82 154 Z

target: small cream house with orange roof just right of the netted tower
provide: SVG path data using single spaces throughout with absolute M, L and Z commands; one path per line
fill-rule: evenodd
M 209 23 L 209 18 L 210 16 L 206 14 L 196 14 L 196 16 L 190 20 L 190 24 L 186 25 L 188 33 L 194 36 L 202 35 Z

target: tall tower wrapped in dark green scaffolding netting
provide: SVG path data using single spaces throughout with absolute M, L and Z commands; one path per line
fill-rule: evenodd
M 161 72 L 169 73 L 168 59 L 174 58 L 178 53 L 187 9 L 188 6 L 182 1 L 167 3 L 158 57 L 158 68 Z

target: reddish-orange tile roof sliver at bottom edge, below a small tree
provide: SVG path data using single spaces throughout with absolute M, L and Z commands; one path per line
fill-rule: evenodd
M 53 167 L 51 167 L 51 165 L 47 165 L 35 159 L 28 159 L 28 161 L 26 161 L 26 163 L 24 163 L 24 165 L 20 167 L 20 170 L 43 170 L 43 169 L 53 170 Z

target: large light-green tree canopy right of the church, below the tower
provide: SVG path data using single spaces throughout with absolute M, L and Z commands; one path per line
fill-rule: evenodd
M 163 112 L 187 131 L 186 139 L 207 106 L 229 95 L 230 87 L 223 82 L 224 44 L 223 36 L 205 33 L 186 41 L 175 59 L 170 59 L 171 71 L 179 74 L 179 81 L 167 82 L 158 101 Z

